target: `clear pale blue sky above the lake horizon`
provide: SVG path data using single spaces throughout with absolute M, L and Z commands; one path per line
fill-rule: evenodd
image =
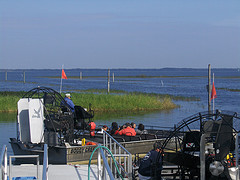
M 239 0 L 0 0 L 0 69 L 240 68 Z

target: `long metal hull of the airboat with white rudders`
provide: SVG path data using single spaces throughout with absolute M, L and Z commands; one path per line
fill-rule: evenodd
M 153 139 L 153 140 L 141 140 L 141 141 L 131 141 L 122 142 L 123 147 L 125 147 L 131 154 L 144 154 L 150 151 L 153 144 L 156 141 L 163 141 L 163 139 Z M 43 149 L 41 148 L 30 148 L 22 142 L 11 138 L 11 146 L 14 155 L 39 155 L 40 163 L 43 161 Z M 48 162 L 50 164 L 70 164 L 80 161 L 89 160 L 92 152 L 96 148 L 96 145 L 88 146 L 54 146 L 48 148 Z M 93 159 L 97 158 L 97 153 L 94 153 Z M 25 162 L 24 159 L 19 159 L 21 163 Z M 29 159 L 27 162 L 29 163 Z

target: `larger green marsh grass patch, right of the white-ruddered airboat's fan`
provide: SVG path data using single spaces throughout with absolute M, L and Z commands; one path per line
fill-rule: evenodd
M 168 97 L 158 98 L 143 94 L 81 94 L 72 93 L 75 105 L 91 107 L 95 112 L 136 112 L 173 109 L 177 106 Z

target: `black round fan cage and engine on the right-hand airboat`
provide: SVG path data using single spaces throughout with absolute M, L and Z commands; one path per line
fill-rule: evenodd
M 213 175 L 210 173 L 210 165 L 218 162 L 229 167 L 227 157 L 229 154 L 234 156 L 236 151 L 239 120 L 237 113 L 220 110 L 201 112 L 183 119 L 171 129 L 170 135 L 162 144 L 164 160 L 177 165 L 182 176 L 188 174 L 190 179 L 198 179 L 201 166 L 200 149 L 204 147 L 206 179 L 211 178 Z M 201 144 L 203 134 L 204 146 Z M 225 170 L 218 175 L 229 179 L 229 173 Z

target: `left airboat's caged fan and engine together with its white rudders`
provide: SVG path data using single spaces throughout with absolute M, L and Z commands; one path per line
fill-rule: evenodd
M 47 143 L 49 147 L 74 142 L 76 132 L 89 128 L 94 112 L 75 106 L 72 112 L 61 94 L 47 87 L 27 92 L 18 102 L 18 140 Z

